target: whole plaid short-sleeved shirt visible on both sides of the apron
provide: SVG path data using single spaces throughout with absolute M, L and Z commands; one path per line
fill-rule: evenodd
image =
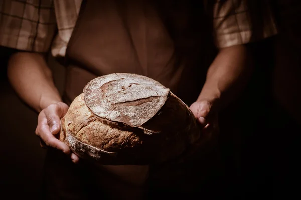
M 101 1 L 101 0 L 100 0 Z M 271 15 L 262 34 L 252 37 L 245 0 L 215 0 L 213 27 L 218 48 L 245 44 L 276 34 Z M 25 51 L 64 56 L 82 0 L 2 0 L 0 2 L 0 45 Z M 267 11 L 268 12 L 268 11 Z

